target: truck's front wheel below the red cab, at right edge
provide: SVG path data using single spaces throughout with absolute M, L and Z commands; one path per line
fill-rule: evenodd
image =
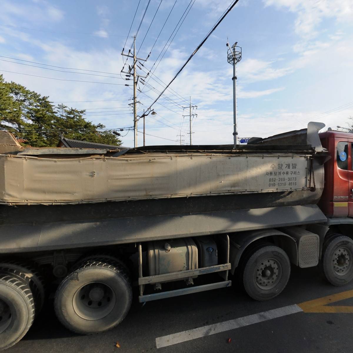
M 345 235 L 330 237 L 323 245 L 322 272 L 334 286 L 343 286 L 353 278 L 353 241 Z

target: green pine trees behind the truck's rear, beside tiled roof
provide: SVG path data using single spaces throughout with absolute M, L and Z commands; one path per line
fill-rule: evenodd
M 0 75 L 0 129 L 26 140 L 24 145 L 55 147 L 60 136 L 71 139 L 120 145 L 121 140 L 103 124 L 84 118 L 85 110 L 54 107 L 48 96 L 42 96 Z

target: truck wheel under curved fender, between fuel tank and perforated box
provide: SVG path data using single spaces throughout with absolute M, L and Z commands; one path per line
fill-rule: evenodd
M 255 250 L 245 262 L 245 291 L 255 300 L 272 299 L 286 287 L 290 274 L 287 254 L 277 246 L 265 245 Z

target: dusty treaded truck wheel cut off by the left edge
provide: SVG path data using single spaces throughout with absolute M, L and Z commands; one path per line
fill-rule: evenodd
M 17 343 L 34 319 L 34 300 L 25 281 L 0 273 L 0 351 Z

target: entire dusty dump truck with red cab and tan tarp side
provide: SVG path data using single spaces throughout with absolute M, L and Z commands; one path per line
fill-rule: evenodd
M 28 331 L 45 282 L 60 283 L 56 315 L 81 334 L 119 324 L 132 283 L 145 302 L 229 287 L 237 273 L 250 297 L 266 300 L 291 265 L 319 261 L 329 282 L 348 283 L 353 139 L 319 135 L 323 127 L 237 149 L 114 151 L 24 149 L 2 132 L 0 348 Z

